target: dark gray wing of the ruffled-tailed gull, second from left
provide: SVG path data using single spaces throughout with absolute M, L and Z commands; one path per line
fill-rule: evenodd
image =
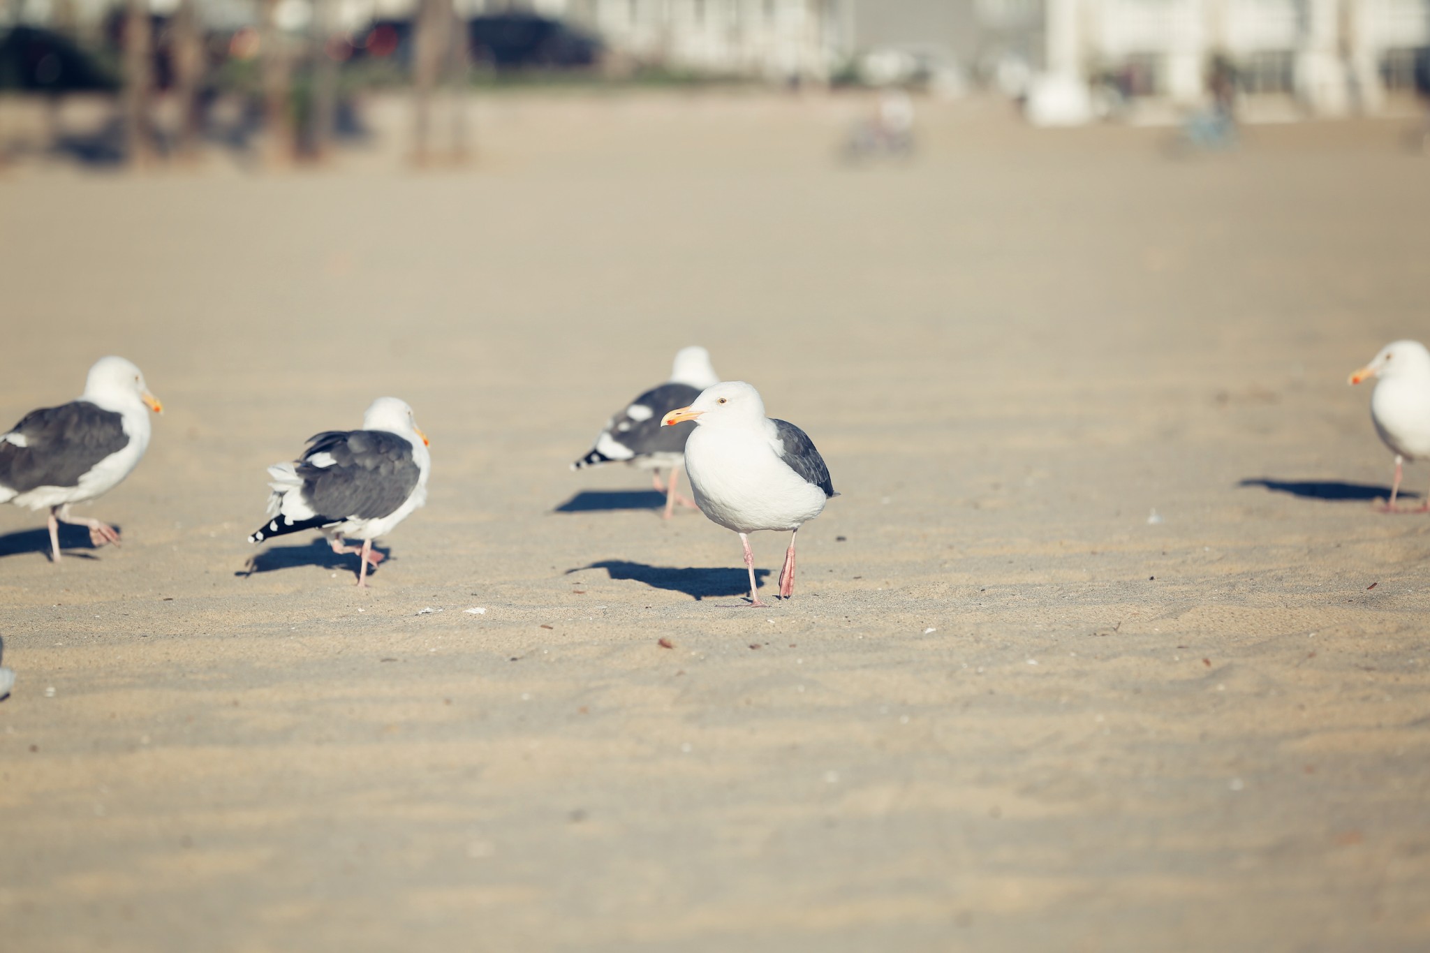
M 385 430 L 326 430 L 309 441 L 295 467 L 303 479 L 303 500 L 319 516 L 365 520 L 395 513 L 418 487 L 422 471 L 412 444 Z M 326 453 L 330 466 L 312 463 Z

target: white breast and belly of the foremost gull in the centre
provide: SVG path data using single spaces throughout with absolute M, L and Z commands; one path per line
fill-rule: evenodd
M 696 427 L 685 471 L 701 512 L 736 533 L 792 530 L 824 510 L 824 490 L 779 459 L 774 427 Z

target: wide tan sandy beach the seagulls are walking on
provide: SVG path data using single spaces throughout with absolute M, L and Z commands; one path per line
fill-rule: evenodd
M 499 96 L 466 169 L 4 173 L 0 424 L 106 353 L 166 413 L 80 507 L 122 549 L 0 507 L 0 947 L 1430 946 L 1430 516 L 1373 512 L 1346 383 L 1430 336 L 1404 124 L 1173 161 L 975 99 L 851 169 L 867 106 Z M 691 343 L 841 492 L 786 604 L 568 469 Z M 249 546 L 265 467 L 380 394 L 433 474 L 372 589 Z

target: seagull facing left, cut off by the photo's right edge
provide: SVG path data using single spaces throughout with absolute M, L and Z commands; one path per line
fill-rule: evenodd
M 1430 457 L 1430 351 L 1420 341 L 1391 341 L 1350 383 L 1379 377 L 1370 396 L 1370 420 L 1386 446 L 1396 453 L 1396 482 L 1384 513 L 1406 513 L 1396 507 L 1401 464 Z M 1430 494 L 1414 512 L 1430 510 Z

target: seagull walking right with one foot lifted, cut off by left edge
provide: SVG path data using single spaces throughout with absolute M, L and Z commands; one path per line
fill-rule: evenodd
M 89 527 L 94 546 L 119 530 L 70 516 L 72 503 L 93 500 L 129 476 L 149 447 L 149 411 L 163 404 L 144 374 L 123 357 L 100 357 L 84 393 L 59 407 L 31 410 L 0 434 L 0 503 L 50 509 L 50 553 L 60 562 L 60 523 Z

